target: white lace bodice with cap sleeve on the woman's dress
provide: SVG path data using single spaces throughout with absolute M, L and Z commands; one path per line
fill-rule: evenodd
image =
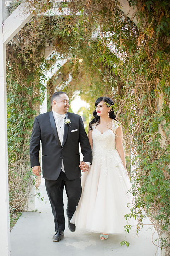
M 105 167 L 103 166 L 105 175 L 107 174 L 106 160 L 109 162 L 114 161 L 114 163 L 118 166 L 122 164 L 122 160 L 118 151 L 115 148 L 115 140 L 116 140 L 116 129 L 121 124 L 112 119 L 112 130 L 106 130 L 103 134 L 97 129 L 97 126 L 92 126 L 92 139 L 93 139 L 93 161 L 96 162 L 97 165 L 103 165 L 105 163 Z

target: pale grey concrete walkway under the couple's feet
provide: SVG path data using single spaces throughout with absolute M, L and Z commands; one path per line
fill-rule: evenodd
M 131 230 L 126 236 L 127 246 L 120 246 L 125 235 L 109 235 L 108 240 L 101 241 L 98 233 L 76 230 L 71 233 L 66 225 L 64 239 L 52 242 L 54 232 L 53 215 L 44 186 L 40 186 L 42 202 L 36 199 L 37 212 L 24 212 L 11 231 L 12 256 L 155 256 L 157 247 L 153 245 L 152 226 L 144 226 L 139 234 Z M 64 194 L 66 210 L 67 196 Z M 66 217 L 67 220 L 67 217 Z M 149 220 L 146 221 L 149 223 Z M 154 239 L 156 236 L 154 236 Z

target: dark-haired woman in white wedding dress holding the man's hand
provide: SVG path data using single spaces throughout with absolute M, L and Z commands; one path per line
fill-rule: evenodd
M 111 109 L 109 97 L 96 100 L 94 119 L 89 123 L 88 137 L 93 162 L 82 175 L 82 195 L 72 217 L 77 229 L 97 232 L 101 240 L 108 234 L 124 232 L 127 224 L 124 215 L 129 213 L 127 193 L 131 183 L 126 170 L 122 143 L 122 127 Z M 87 171 L 80 162 L 83 172 Z

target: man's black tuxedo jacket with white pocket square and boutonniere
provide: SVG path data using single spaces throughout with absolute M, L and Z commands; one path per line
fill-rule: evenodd
M 61 172 L 62 160 L 66 177 L 74 180 L 81 177 L 79 167 L 80 154 L 83 161 L 92 163 L 92 152 L 89 139 L 84 129 L 82 118 L 73 113 L 67 113 L 71 123 L 64 124 L 63 144 L 61 145 L 53 117 L 53 113 L 47 112 L 35 117 L 33 131 L 30 139 L 30 162 L 31 167 L 40 165 L 39 150 L 42 143 L 42 170 L 43 178 L 57 180 Z M 72 132 L 72 130 L 77 130 Z

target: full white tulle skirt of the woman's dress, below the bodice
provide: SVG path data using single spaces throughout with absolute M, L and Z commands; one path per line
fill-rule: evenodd
M 118 154 L 117 150 L 114 154 Z M 119 154 L 117 157 L 120 159 Z M 89 171 L 82 174 L 81 183 L 82 196 L 71 223 L 89 232 L 124 233 L 124 215 L 130 212 L 127 204 L 132 197 L 127 193 L 131 183 L 121 160 L 106 157 L 98 165 L 94 159 Z

